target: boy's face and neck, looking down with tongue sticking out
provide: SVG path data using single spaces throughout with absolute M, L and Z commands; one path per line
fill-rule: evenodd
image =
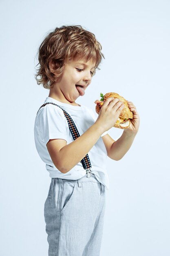
M 84 91 L 91 83 L 95 63 L 92 60 L 88 62 L 82 58 L 75 58 L 67 62 L 62 76 L 55 83 L 50 94 L 65 103 L 73 103 L 79 96 L 84 95 Z M 76 87 L 83 85 L 84 87 Z M 68 103 L 68 104 L 69 104 Z

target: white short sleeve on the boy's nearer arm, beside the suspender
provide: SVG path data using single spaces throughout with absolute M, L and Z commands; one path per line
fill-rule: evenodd
M 67 141 L 66 120 L 59 107 L 49 104 L 43 107 L 39 115 L 40 136 L 45 144 L 49 139 L 65 139 Z

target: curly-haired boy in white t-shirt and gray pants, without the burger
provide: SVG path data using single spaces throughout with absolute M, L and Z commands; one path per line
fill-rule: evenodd
M 49 256 L 99 256 L 108 189 L 106 157 L 121 159 L 139 129 L 132 102 L 128 102 L 132 122 L 117 141 L 107 130 L 124 108 L 119 99 L 108 98 L 97 119 L 93 110 L 76 103 L 99 69 L 104 57 L 101 49 L 95 35 L 82 26 L 57 27 L 39 48 L 40 68 L 35 77 L 49 89 L 49 97 L 36 115 L 34 135 L 51 177 L 44 204 Z M 84 157 L 88 168 L 83 166 Z

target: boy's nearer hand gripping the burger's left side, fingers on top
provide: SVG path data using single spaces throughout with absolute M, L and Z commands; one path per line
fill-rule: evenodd
M 108 97 L 106 101 L 104 101 L 95 123 L 101 126 L 104 132 L 109 130 L 115 125 L 123 108 L 124 104 L 120 99 Z

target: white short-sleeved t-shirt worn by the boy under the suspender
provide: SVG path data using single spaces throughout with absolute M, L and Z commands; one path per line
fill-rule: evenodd
M 88 128 L 90 128 L 96 121 L 95 114 L 91 108 L 86 106 L 72 106 L 67 103 L 62 103 L 51 97 L 46 97 L 46 102 L 53 102 L 61 106 L 73 119 L 79 135 L 81 136 Z M 106 135 L 104 132 L 95 145 L 88 152 L 88 157 L 91 161 L 91 173 L 95 174 L 95 177 L 101 182 L 105 189 L 108 190 L 108 174 L 106 171 L 106 158 L 107 151 L 102 140 L 102 136 Z M 77 180 L 86 175 L 86 170 L 83 168 L 82 162 L 79 162 L 67 173 L 62 173 L 53 164 L 46 144 L 49 139 L 65 139 L 67 144 L 74 141 L 71 132 L 68 127 L 66 117 L 61 108 L 53 105 L 46 104 L 40 108 L 38 114 L 35 117 L 34 125 L 34 138 L 35 146 L 40 155 L 42 161 L 46 164 L 46 170 L 49 171 L 49 175 L 52 178 Z

